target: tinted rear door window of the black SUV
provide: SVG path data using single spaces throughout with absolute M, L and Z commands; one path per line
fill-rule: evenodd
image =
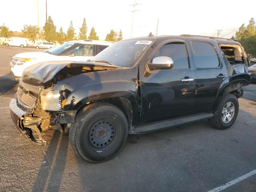
M 192 42 L 196 68 L 217 68 L 219 58 L 213 46 L 206 42 Z

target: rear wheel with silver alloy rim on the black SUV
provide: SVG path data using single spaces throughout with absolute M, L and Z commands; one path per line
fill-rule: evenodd
M 229 104 L 230 107 L 228 107 Z M 226 110 L 224 110 L 224 107 Z M 213 112 L 214 117 L 208 121 L 214 128 L 225 130 L 230 128 L 236 121 L 238 110 L 239 103 L 236 96 L 230 93 L 225 93 L 216 101 Z

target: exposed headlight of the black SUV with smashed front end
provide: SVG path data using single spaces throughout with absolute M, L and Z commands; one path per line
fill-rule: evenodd
M 66 102 L 64 99 L 64 93 L 62 91 L 44 91 L 41 94 L 41 107 L 47 111 L 59 111 L 61 110 Z

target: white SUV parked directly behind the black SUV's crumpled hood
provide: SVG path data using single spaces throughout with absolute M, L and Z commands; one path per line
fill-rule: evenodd
M 112 44 L 97 40 L 75 40 L 44 52 L 19 53 L 12 57 L 10 71 L 12 77 L 19 80 L 25 68 L 38 62 L 87 61 Z

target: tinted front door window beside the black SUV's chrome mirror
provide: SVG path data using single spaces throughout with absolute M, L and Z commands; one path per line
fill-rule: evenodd
M 159 56 L 170 57 L 173 60 L 172 69 L 187 69 L 188 65 L 188 55 L 186 51 L 186 46 L 184 43 L 170 43 L 162 46 L 153 58 Z

